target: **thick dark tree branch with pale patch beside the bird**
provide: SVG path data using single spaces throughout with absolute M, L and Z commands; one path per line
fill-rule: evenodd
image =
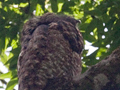
M 75 90 L 120 90 L 120 47 L 83 73 Z

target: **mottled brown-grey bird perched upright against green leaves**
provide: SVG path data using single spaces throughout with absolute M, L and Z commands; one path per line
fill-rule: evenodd
M 19 90 L 64 90 L 65 84 L 79 80 L 83 38 L 76 28 L 78 22 L 46 13 L 24 24 L 18 58 Z M 54 89 L 48 88 L 52 86 Z

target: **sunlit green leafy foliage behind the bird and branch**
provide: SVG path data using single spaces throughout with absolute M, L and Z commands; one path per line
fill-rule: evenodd
M 96 47 L 83 51 L 83 72 L 120 46 L 120 0 L 0 0 L 0 88 L 13 90 L 18 83 L 17 59 L 23 24 L 46 12 L 66 14 L 81 20 L 78 25 L 86 42 Z M 12 49 L 10 50 L 10 48 Z M 6 82 L 5 79 L 10 81 Z

